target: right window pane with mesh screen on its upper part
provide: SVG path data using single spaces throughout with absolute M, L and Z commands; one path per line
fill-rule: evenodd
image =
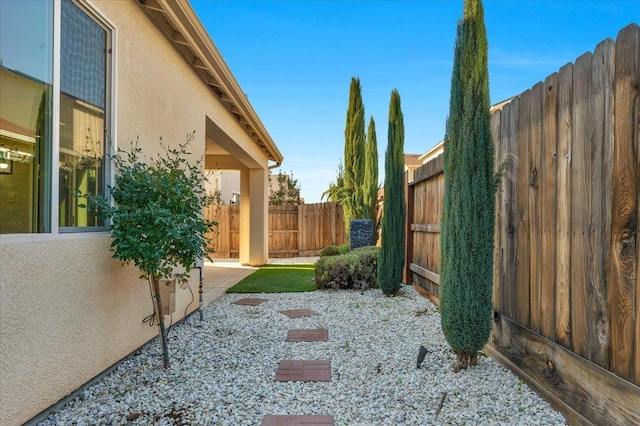
M 105 194 L 108 33 L 71 0 L 61 23 L 59 225 L 103 226 L 75 195 Z

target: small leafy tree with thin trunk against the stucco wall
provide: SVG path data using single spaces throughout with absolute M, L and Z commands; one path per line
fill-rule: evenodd
M 141 278 L 149 281 L 164 368 L 169 368 L 169 352 L 159 280 L 176 278 L 186 283 L 190 269 L 207 256 L 207 232 L 216 225 L 203 217 L 207 204 L 203 161 L 191 164 L 186 158 L 194 134 L 177 148 L 161 140 L 164 152 L 149 162 L 142 158 L 137 140 L 130 151 L 118 149 L 112 156 L 115 185 L 109 187 L 115 204 L 102 196 L 84 196 L 90 211 L 111 221 L 113 257 L 133 263 Z

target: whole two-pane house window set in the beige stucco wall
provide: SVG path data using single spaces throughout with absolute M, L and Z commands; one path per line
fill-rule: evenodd
M 83 4 L 0 1 L 0 234 L 104 227 L 76 194 L 106 194 L 112 30 Z

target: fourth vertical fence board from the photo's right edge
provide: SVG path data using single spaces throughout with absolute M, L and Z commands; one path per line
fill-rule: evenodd
M 558 76 L 558 214 L 556 221 L 556 337 L 571 349 L 571 134 L 573 64 Z

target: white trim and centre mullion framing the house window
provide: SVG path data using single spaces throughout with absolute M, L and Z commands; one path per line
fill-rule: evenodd
M 1 0 L 0 0 L 1 1 Z M 100 11 L 90 0 L 72 0 L 83 10 L 89 13 L 89 16 L 103 26 L 108 32 L 108 40 L 111 48 L 110 66 L 107 67 L 106 78 L 108 81 L 107 105 L 110 114 L 107 128 L 107 137 L 105 144 L 115 150 L 117 149 L 117 83 L 118 83 L 118 67 L 117 67 L 117 27 L 109 20 L 102 11 Z M 42 233 L 23 233 L 23 234 L 0 234 L 0 244 L 23 243 L 23 242 L 40 242 L 40 241 L 57 241 L 57 240 L 82 240 L 105 238 L 110 235 L 106 229 L 93 230 L 77 228 L 77 231 L 60 232 L 60 184 L 58 176 L 58 164 L 60 161 L 60 38 L 61 38 L 61 18 L 62 3 L 61 0 L 55 0 L 53 4 L 53 105 L 51 114 L 51 167 L 49 170 L 49 178 L 51 185 L 49 186 L 49 194 L 45 194 L 45 199 L 49 198 L 50 212 L 50 228 L 49 232 Z M 115 178 L 113 173 L 113 165 L 110 161 L 105 164 L 105 173 L 108 184 L 114 185 Z

